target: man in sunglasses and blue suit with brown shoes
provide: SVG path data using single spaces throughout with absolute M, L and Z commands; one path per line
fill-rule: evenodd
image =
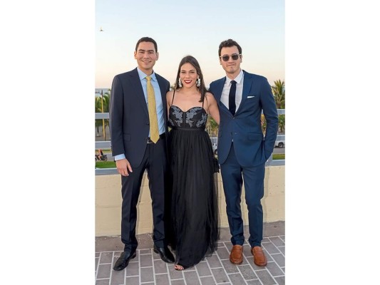
M 264 196 L 265 162 L 272 154 L 276 141 L 278 116 L 267 78 L 247 73 L 240 68 L 242 48 L 228 39 L 219 46 L 220 65 L 226 77 L 210 84 L 219 105 L 220 126 L 217 155 L 227 204 L 232 250 L 230 261 L 242 263 L 243 234 L 240 197 L 245 186 L 250 228 L 251 252 L 258 266 L 267 265 L 262 252 L 262 204 Z M 267 120 L 264 138 L 261 113 Z

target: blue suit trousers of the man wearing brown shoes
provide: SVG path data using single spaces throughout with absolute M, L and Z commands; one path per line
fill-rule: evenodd
M 245 202 L 248 209 L 248 221 L 250 223 L 251 247 L 261 246 L 263 215 L 261 199 L 264 196 L 265 163 L 253 167 L 242 167 L 237 162 L 233 144 L 227 160 L 220 165 L 223 188 L 225 191 L 226 212 L 231 242 L 233 245 L 242 245 L 245 241 L 242 210 L 240 208 L 242 183 L 245 186 Z

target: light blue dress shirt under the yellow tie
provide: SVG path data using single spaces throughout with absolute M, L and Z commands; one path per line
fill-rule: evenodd
M 137 71 L 138 71 L 138 77 L 140 78 L 141 86 L 143 87 L 145 102 L 148 106 L 148 93 L 146 91 L 146 84 L 148 81 L 145 78 L 147 75 L 143 73 L 143 71 L 140 71 L 139 68 L 137 68 Z M 157 111 L 158 131 L 161 135 L 165 133 L 165 119 L 163 117 L 164 116 L 163 98 L 161 97 L 160 86 L 158 86 L 158 81 L 157 81 L 157 78 L 155 77 L 154 71 L 152 74 L 150 74 L 150 77 L 151 77 L 150 82 L 152 83 L 153 89 L 155 90 L 155 109 Z M 149 137 L 150 137 L 150 132 L 149 132 Z M 123 158 L 125 158 L 124 154 L 115 156 L 115 160 L 122 160 Z

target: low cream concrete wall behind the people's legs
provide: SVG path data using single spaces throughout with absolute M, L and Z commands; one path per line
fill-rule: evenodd
M 265 195 L 262 198 L 264 222 L 285 220 L 284 209 L 284 170 L 285 166 L 265 167 Z M 225 195 L 222 178 L 218 176 L 220 227 L 228 228 L 225 213 Z M 121 178 L 120 175 L 96 175 L 96 237 L 119 236 L 121 221 Z M 153 229 L 152 207 L 148 177 L 143 176 L 143 182 L 138 199 L 138 220 L 136 234 L 148 234 Z M 242 214 L 244 224 L 248 224 L 245 190 L 242 191 Z

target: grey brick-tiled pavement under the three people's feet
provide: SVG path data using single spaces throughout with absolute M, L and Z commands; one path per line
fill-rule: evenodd
M 248 237 L 245 227 L 245 237 Z M 137 257 L 131 259 L 123 271 L 114 271 L 113 264 L 123 250 L 120 237 L 97 237 L 95 256 L 96 285 L 195 285 L 195 284 L 285 284 L 284 222 L 265 224 L 262 248 L 268 259 L 265 267 L 256 266 L 247 240 L 243 246 L 243 263 L 230 263 L 230 231 L 220 229 L 217 252 L 194 267 L 176 271 L 153 252 L 150 234 L 138 236 Z

